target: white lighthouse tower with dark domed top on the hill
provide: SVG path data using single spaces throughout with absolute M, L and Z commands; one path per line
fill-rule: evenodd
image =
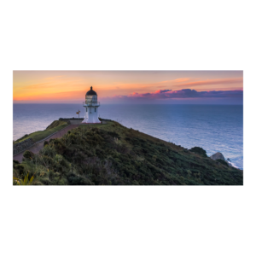
M 100 102 L 97 102 L 97 94 L 96 91 L 92 90 L 92 86 L 85 95 L 85 102 L 83 102 L 83 107 L 85 108 L 85 117 L 82 123 L 101 123 L 101 121 L 98 119 L 98 108 L 100 107 Z

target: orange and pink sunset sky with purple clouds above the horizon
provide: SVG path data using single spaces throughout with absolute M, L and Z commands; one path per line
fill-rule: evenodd
M 243 104 L 243 70 L 12 70 L 14 103 Z

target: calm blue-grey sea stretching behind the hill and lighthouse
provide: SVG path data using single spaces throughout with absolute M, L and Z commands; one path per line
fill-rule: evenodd
M 60 118 L 84 117 L 79 104 L 14 104 L 13 140 L 43 131 Z M 243 107 L 234 105 L 103 105 L 103 119 L 112 119 L 184 148 L 217 152 L 243 169 Z

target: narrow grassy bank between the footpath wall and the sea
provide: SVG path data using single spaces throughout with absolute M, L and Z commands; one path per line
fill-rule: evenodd
M 62 128 L 66 127 L 68 124 L 67 122 L 62 121 L 54 121 L 51 125 L 49 125 L 46 130 L 44 131 L 36 131 L 31 133 L 30 135 L 25 135 L 23 137 L 20 137 L 20 139 L 16 140 L 15 143 L 21 143 L 22 141 L 25 141 L 28 138 L 32 138 L 34 143 L 37 143 L 38 141 L 43 140 L 45 137 L 48 137 L 52 133 L 55 133 L 56 131 L 60 131 Z

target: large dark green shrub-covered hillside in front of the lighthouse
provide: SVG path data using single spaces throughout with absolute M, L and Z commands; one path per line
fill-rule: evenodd
M 14 184 L 242 185 L 240 170 L 196 153 L 114 121 L 80 125 L 14 161 Z

